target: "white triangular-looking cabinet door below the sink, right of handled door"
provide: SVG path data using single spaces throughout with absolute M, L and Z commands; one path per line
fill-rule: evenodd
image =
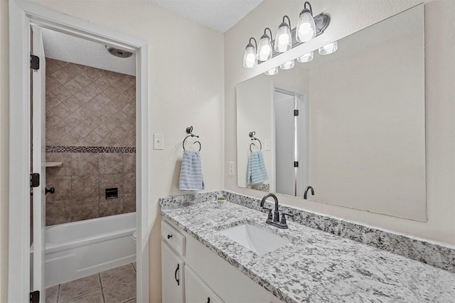
M 223 303 L 188 265 L 185 266 L 185 283 L 186 303 Z

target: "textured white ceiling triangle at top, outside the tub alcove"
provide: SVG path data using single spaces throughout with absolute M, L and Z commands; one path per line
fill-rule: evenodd
M 263 0 L 151 0 L 169 11 L 225 33 Z

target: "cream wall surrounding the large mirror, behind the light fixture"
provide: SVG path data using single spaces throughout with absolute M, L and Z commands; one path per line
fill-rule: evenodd
M 265 27 L 276 33 L 285 14 L 296 23 L 302 9 L 301 1 L 269 1 L 260 4 L 240 23 L 225 33 L 225 165 L 236 160 L 235 85 L 286 62 L 299 54 L 308 53 L 332 40 L 370 26 L 384 18 L 408 9 L 419 1 L 372 0 L 341 1 L 313 0 L 314 13 L 331 15 L 331 24 L 323 35 L 300 45 L 289 53 L 247 70 L 242 56 L 250 37 L 259 38 Z M 341 206 L 321 204 L 291 197 L 280 197 L 282 204 L 359 221 L 400 233 L 455 244 L 455 2 L 429 1 L 425 4 L 425 72 L 426 72 L 426 158 L 427 216 L 426 223 L 373 214 Z M 225 173 L 225 187 L 236 192 L 262 197 L 262 192 L 237 187 L 236 177 Z M 387 191 L 384 193 L 387 199 Z

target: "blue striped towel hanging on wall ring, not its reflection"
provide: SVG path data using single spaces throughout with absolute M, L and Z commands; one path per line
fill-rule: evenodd
M 199 151 L 183 150 L 178 189 L 200 190 L 204 188 Z

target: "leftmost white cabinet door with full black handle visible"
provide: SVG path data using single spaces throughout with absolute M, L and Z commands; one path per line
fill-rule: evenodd
M 163 303 L 184 303 L 183 260 L 161 241 L 161 287 Z

